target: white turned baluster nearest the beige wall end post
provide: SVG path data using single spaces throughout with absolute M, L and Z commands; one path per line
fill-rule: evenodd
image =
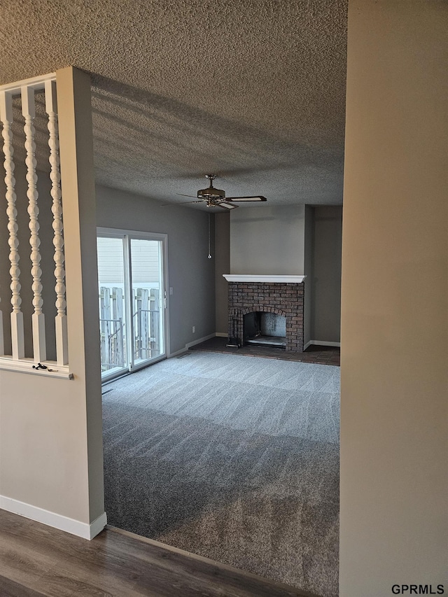
M 65 313 L 65 270 L 64 270 L 64 237 L 62 235 L 62 202 L 61 174 L 59 169 L 59 136 L 57 127 L 56 82 L 45 81 L 45 111 L 48 113 L 48 145 L 50 146 L 50 180 L 53 214 L 53 245 L 55 246 L 55 278 L 56 278 L 56 358 L 58 365 L 69 362 L 69 345 L 67 340 L 67 317 Z

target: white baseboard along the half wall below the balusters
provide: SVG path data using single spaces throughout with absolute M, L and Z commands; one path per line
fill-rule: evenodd
M 64 517 L 62 514 L 55 514 L 55 512 L 49 512 L 48 510 L 43 510 L 43 508 L 20 502 L 19 500 L 6 498 L 6 496 L 0 496 L 0 508 L 8 512 L 13 512 L 13 514 L 19 514 L 19 516 L 35 520 L 41 524 L 58 528 L 59 531 L 65 531 L 66 533 L 71 533 L 71 535 L 77 535 L 78 537 L 89 540 L 96 537 L 98 533 L 101 533 L 107 524 L 106 512 L 103 512 L 91 524 L 87 524 Z

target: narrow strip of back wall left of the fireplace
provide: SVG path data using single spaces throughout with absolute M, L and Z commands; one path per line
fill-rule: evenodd
M 223 274 L 230 274 L 230 213 L 215 214 L 215 296 L 216 332 L 228 335 L 228 281 Z

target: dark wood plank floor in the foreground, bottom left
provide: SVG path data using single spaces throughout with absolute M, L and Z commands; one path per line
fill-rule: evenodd
M 87 541 L 0 510 L 1 597 L 313 597 L 106 528 Z

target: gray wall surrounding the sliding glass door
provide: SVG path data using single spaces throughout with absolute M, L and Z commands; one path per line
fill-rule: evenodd
M 214 334 L 215 259 L 207 259 L 207 212 L 163 207 L 142 195 L 97 185 L 97 225 L 168 234 L 171 353 Z

